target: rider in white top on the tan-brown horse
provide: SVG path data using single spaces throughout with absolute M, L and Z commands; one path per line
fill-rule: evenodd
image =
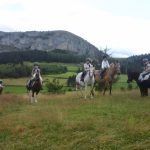
M 107 60 L 107 56 L 104 55 L 103 56 L 103 60 L 102 60 L 102 63 L 101 63 L 101 73 L 100 73 L 100 77 L 101 79 L 103 79 L 104 77 L 104 73 L 106 72 L 106 70 L 109 68 L 109 62 Z

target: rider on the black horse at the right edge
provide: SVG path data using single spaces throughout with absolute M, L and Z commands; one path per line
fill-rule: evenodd
M 145 75 L 150 73 L 150 62 L 148 61 L 148 59 L 144 58 L 143 63 L 144 63 L 144 71 L 142 73 L 140 73 L 139 81 L 143 81 Z

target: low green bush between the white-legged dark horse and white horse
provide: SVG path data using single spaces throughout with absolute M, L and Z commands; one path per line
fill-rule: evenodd
M 46 87 L 49 93 L 65 93 L 63 90 L 63 85 L 59 83 L 59 80 L 53 79 L 52 81 L 47 81 Z

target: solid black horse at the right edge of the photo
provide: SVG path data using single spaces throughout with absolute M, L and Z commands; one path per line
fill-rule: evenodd
M 135 80 L 137 85 L 139 86 L 141 96 L 148 96 L 148 88 L 150 88 L 150 79 L 149 80 L 144 80 L 144 81 L 139 81 L 140 72 L 135 72 L 135 71 L 130 71 L 128 72 L 128 80 L 127 82 L 130 83 L 132 80 Z

